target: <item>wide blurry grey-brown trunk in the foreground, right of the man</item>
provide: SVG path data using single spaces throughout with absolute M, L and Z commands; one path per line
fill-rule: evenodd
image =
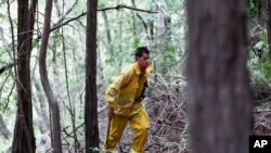
M 245 1 L 188 0 L 186 7 L 193 152 L 247 153 L 253 106 Z

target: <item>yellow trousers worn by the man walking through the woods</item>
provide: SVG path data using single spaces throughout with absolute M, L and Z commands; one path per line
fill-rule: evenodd
M 150 119 L 144 107 L 139 113 L 134 114 L 131 117 L 113 115 L 113 117 L 111 118 L 111 129 L 107 141 L 108 142 L 107 149 L 113 150 L 116 148 L 117 143 L 121 139 L 122 132 L 128 122 L 130 124 L 130 127 L 134 131 L 131 144 L 131 152 L 142 153 L 143 146 L 147 140 L 147 135 L 150 129 Z

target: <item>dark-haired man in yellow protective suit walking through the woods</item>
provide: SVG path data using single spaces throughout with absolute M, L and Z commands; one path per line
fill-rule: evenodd
M 151 71 L 150 50 L 147 47 L 139 47 L 136 50 L 136 61 L 125 66 L 106 90 L 107 116 L 111 120 L 105 141 L 107 151 L 115 151 L 129 123 L 134 132 L 130 153 L 143 152 L 150 129 L 143 92 Z

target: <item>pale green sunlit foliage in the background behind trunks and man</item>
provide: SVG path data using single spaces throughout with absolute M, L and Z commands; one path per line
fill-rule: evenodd
M 39 2 L 39 22 L 35 25 L 35 33 L 42 31 L 43 26 L 43 14 L 42 10 L 44 9 L 44 0 Z M 59 1 L 61 2 L 64 1 Z M 172 76 L 170 82 L 167 86 L 167 92 L 172 91 L 183 91 L 186 81 L 178 80 L 176 76 L 180 76 L 183 62 L 185 60 L 185 31 L 186 31 L 186 12 L 185 12 L 185 1 L 166 1 L 166 0 L 144 0 L 144 1 L 134 1 L 137 9 L 142 9 L 146 11 L 157 11 L 158 8 L 163 8 L 166 17 L 166 33 L 165 39 L 163 41 L 157 41 L 155 31 L 157 30 L 157 14 L 156 13 L 146 13 L 139 12 L 134 10 L 129 10 L 126 8 L 118 8 L 113 10 L 107 10 L 107 21 L 108 27 L 106 27 L 105 20 L 103 18 L 102 12 L 98 12 L 98 74 L 96 74 L 96 84 L 98 92 L 102 95 L 99 97 L 99 101 L 103 101 L 104 91 L 109 82 L 118 75 L 119 71 L 127 63 L 134 61 L 134 49 L 139 46 L 147 46 L 152 51 L 152 62 L 154 65 L 159 65 L 160 63 L 169 69 L 167 74 L 157 73 L 160 67 L 156 66 L 157 69 L 155 73 L 159 75 Z M 257 16 L 258 4 L 264 3 L 264 0 L 246 0 L 247 11 L 249 20 L 253 20 Z M 65 5 L 62 5 L 61 9 L 64 9 L 62 13 L 65 14 L 72 5 L 73 1 L 66 1 Z M 116 5 L 127 5 L 132 7 L 131 1 L 99 1 L 99 9 L 104 8 L 114 8 Z M 1 38 L 0 42 L 0 66 L 12 63 L 12 42 L 11 42 L 11 31 L 9 29 L 9 20 L 7 17 L 7 5 L 5 2 L 0 2 L 0 21 L 3 23 L 4 38 Z M 68 21 L 73 17 L 86 13 L 86 1 L 77 1 L 75 8 L 70 10 L 67 14 Z M 14 12 L 13 12 L 14 13 Z M 141 18 L 138 16 L 140 15 Z M 56 16 L 56 17 L 55 17 Z M 56 15 L 55 8 L 53 9 L 52 24 L 55 24 L 57 18 L 61 16 Z M 13 17 L 12 22 L 16 26 L 16 18 Z M 145 29 L 145 25 L 147 29 Z M 2 26 L 1 26 L 2 27 Z M 14 27 L 15 29 L 16 27 Z M 54 30 L 50 34 L 50 42 L 48 49 L 48 72 L 50 76 L 50 82 L 53 87 L 53 91 L 57 93 L 57 100 L 60 101 L 61 106 L 61 116 L 62 116 L 62 126 L 65 128 L 65 132 L 72 133 L 73 126 L 70 120 L 70 107 L 75 109 L 73 114 L 75 116 L 75 126 L 79 127 L 83 123 L 83 91 L 85 91 L 85 58 L 86 58 L 86 16 L 77 18 L 67 23 L 65 26 L 60 28 L 61 30 Z M 149 38 L 151 30 L 154 31 L 153 38 Z M 260 33 L 259 33 L 260 30 Z M 111 34 L 111 40 L 107 39 L 107 31 Z M 258 27 L 256 24 L 250 29 L 253 36 L 258 37 L 257 43 L 249 50 L 249 59 L 247 61 L 247 66 L 250 71 L 251 85 L 259 90 L 271 80 L 271 64 L 268 55 L 268 41 L 266 31 Z M 257 33 L 257 34 L 256 34 Z M 258 34 L 259 33 L 259 34 Z M 162 42 L 162 43 L 160 43 Z M 16 46 L 16 44 L 15 44 Z M 160 47 L 165 47 L 163 50 Z M 16 47 L 15 47 L 16 48 Z M 40 41 L 34 41 L 31 52 L 31 79 L 39 79 L 39 69 L 38 69 L 38 55 L 40 49 Z M 260 51 L 260 52 L 258 52 Z M 55 53 L 55 54 L 53 54 Z M 259 54 L 260 53 L 260 56 Z M 55 55 L 55 56 L 54 56 Z M 64 59 L 65 56 L 65 59 Z M 55 58 L 55 63 L 52 63 L 52 59 Z M 65 63 L 66 62 L 66 63 Z M 55 65 L 54 65 L 55 64 Z M 66 64 L 66 65 L 65 65 Z M 65 67 L 67 66 L 67 67 Z M 163 78 L 163 77 L 162 77 Z M 152 80 L 151 80 L 152 81 Z M 155 81 L 155 79 L 153 79 Z M 157 82 L 157 81 L 155 81 Z M 13 113 L 14 116 L 17 101 L 16 90 L 14 87 L 14 74 L 12 71 L 9 71 L 0 75 L 0 111 L 8 104 L 9 113 Z M 68 89 L 67 89 L 68 87 Z M 39 89 L 38 92 L 35 86 L 33 86 L 34 105 L 37 106 L 37 97 L 40 92 L 43 93 L 42 89 Z M 68 91 L 67 91 L 68 90 Z M 157 89 L 154 89 L 150 92 L 157 92 Z M 153 94 L 155 94 L 153 93 Z M 42 95 L 44 98 L 44 93 Z M 44 98 L 46 99 L 46 98 Z M 70 99 L 70 100 L 69 100 Z M 47 103 L 47 101 L 44 100 Z M 5 117 L 9 117 L 11 114 L 4 114 Z M 12 117 L 14 118 L 14 117 Z M 35 112 L 34 117 L 35 132 L 38 137 L 41 136 L 40 129 L 38 128 L 37 113 Z M 13 119 L 8 120 L 10 129 L 13 129 Z M 78 129 L 77 129 L 78 130 Z M 82 129 L 79 129 L 82 131 Z M 79 132 L 80 132 L 79 131 Z M 70 136 L 73 137 L 73 136 Z M 73 139 L 68 137 L 65 139 L 65 143 L 73 144 Z M 41 140 L 41 138 L 37 138 Z M 83 141 L 83 136 L 78 138 L 80 142 Z M 182 140 L 186 141 L 186 140 Z M 176 148 L 175 142 L 168 142 L 169 148 Z M 39 148 L 40 149 L 40 148 Z M 41 148 L 43 149 L 43 148 Z M 41 151 L 42 152 L 42 151 Z

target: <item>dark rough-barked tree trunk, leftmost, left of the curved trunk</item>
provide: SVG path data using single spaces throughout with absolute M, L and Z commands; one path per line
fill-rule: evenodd
M 35 153 L 33 103 L 30 85 L 30 54 L 37 0 L 17 1 L 17 114 L 12 142 L 13 153 Z

